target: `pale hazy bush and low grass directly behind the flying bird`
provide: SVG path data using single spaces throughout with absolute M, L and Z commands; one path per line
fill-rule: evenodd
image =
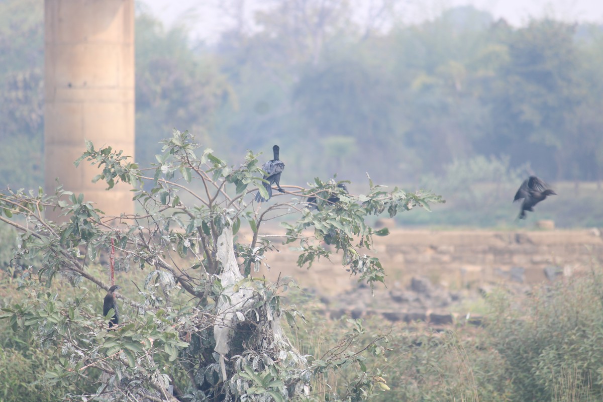
M 558 195 L 538 204 L 534 213 L 519 221 L 520 203 L 512 203 L 522 178 L 530 166 L 511 168 L 509 158 L 487 159 L 482 156 L 455 160 L 444 167 L 441 175 L 424 175 L 420 187 L 438 189 L 446 205 L 431 213 L 417 212 L 397 216 L 403 227 L 490 227 L 501 230 L 535 228 L 535 222 L 552 219 L 555 225 L 567 227 L 601 227 L 603 191 L 597 183 L 560 181 L 552 187 Z

